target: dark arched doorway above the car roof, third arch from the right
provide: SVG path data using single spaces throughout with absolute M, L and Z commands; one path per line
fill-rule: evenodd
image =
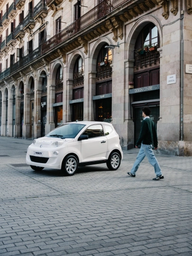
M 83 120 L 84 64 L 79 56 L 73 68 L 73 100 L 70 101 L 72 121 Z

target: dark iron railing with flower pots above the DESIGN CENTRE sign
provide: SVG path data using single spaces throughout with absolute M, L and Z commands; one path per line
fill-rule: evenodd
M 157 51 L 159 43 L 155 43 L 147 47 L 148 49 L 144 50 L 143 48 L 135 49 L 135 64 L 134 66 L 138 68 L 147 67 L 151 64 L 160 63 L 159 52 Z

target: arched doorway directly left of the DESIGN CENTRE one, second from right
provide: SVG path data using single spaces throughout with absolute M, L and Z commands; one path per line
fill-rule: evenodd
M 112 51 L 104 44 L 97 58 L 96 93 L 93 97 L 95 120 L 111 122 L 112 119 Z

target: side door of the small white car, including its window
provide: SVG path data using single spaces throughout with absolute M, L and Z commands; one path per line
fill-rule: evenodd
M 105 160 L 108 140 L 107 137 L 104 136 L 101 124 L 89 126 L 82 135 L 89 136 L 88 139 L 82 140 L 82 162 Z

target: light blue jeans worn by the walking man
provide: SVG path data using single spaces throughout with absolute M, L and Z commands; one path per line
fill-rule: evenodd
M 139 153 L 137 155 L 137 159 L 131 169 L 131 173 L 132 174 L 136 174 L 138 167 L 140 165 L 140 163 L 143 161 L 143 159 L 145 158 L 145 156 L 147 157 L 149 163 L 151 165 L 153 165 L 154 169 L 155 169 L 155 174 L 156 176 L 161 175 L 161 168 L 159 166 L 159 163 L 156 160 L 156 157 L 153 153 L 152 150 L 152 146 L 151 145 L 145 145 L 145 144 L 141 144 L 141 148 L 139 150 Z

